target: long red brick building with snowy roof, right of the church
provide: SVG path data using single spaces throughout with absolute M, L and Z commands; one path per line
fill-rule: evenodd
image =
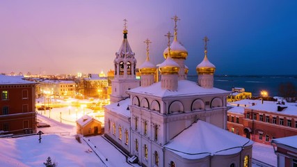
M 297 135 L 296 103 L 241 100 L 227 112 L 227 129 L 258 143 Z

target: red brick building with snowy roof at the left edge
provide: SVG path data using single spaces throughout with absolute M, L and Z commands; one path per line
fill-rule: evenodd
M 0 75 L 0 135 L 36 132 L 35 82 Z

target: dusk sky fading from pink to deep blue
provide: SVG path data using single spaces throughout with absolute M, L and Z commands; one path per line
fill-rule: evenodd
M 164 61 L 171 17 L 189 74 L 204 56 L 216 74 L 297 74 L 297 1 L 0 1 L 0 72 L 105 73 L 122 43 L 123 19 L 137 66 Z

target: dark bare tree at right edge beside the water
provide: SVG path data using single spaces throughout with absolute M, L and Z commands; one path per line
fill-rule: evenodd
M 296 86 L 291 82 L 282 83 L 278 86 L 278 95 L 284 97 L 287 102 L 295 102 L 297 99 Z

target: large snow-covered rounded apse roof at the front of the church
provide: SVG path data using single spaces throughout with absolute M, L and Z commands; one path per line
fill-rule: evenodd
M 252 143 L 248 138 L 198 120 L 164 147 L 185 159 L 201 159 L 209 155 L 236 154 Z

